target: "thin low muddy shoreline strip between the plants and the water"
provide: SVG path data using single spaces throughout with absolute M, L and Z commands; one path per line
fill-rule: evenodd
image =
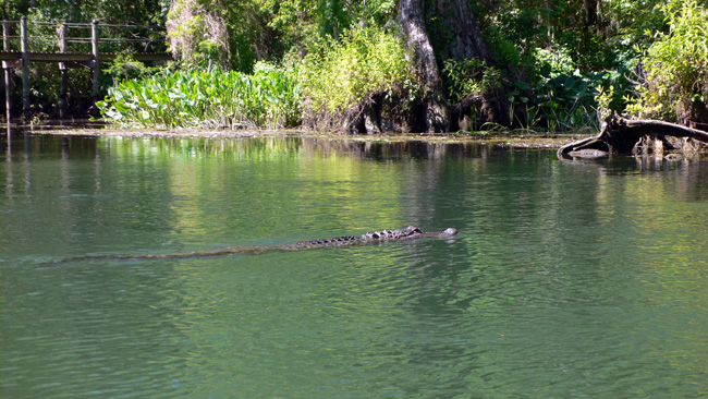
M 155 138 L 248 138 L 248 137 L 308 137 L 333 141 L 354 141 L 373 143 L 475 143 L 495 144 L 520 148 L 560 148 L 564 144 L 590 136 L 578 134 L 551 134 L 536 132 L 484 132 L 484 133 L 388 133 L 388 134 L 344 134 L 340 132 L 318 132 L 310 130 L 158 130 L 121 129 L 101 122 L 78 121 L 71 124 L 11 125 L 12 134 L 48 134 L 66 136 L 121 136 Z

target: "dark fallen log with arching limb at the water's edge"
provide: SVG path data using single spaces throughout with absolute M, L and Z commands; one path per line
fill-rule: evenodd
M 670 138 L 708 143 L 708 132 L 675 123 L 646 119 L 631 120 L 614 114 L 602 123 L 602 129 L 597 136 L 562 146 L 558 150 L 558 157 L 574 156 L 584 152 L 589 154 L 590 150 L 614 155 L 649 153 L 663 155 L 666 150 L 676 149 L 675 143 Z

